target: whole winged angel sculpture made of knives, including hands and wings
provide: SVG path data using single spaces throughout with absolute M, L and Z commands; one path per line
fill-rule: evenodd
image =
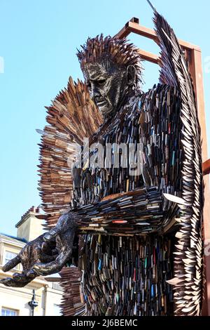
M 41 140 L 48 232 L 3 267 L 23 267 L 1 280 L 6 286 L 63 268 L 67 288 L 77 279 L 67 276 L 74 263 L 77 315 L 201 312 L 200 124 L 185 55 L 153 10 L 161 70 L 147 93 L 138 50 L 126 39 L 101 35 L 78 51 L 85 82 L 70 78 L 47 108 Z

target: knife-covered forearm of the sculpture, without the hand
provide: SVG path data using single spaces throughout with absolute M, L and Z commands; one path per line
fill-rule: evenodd
M 155 232 L 163 217 L 162 198 L 157 187 L 113 194 L 101 202 L 69 212 L 69 221 L 73 216 L 80 234 L 134 235 Z

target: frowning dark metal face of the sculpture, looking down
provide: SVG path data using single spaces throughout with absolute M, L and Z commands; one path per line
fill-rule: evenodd
M 83 70 L 90 97 L 103 117 L 115 114 L 125 95 L 127 71 L 107 62 L 87 63 Z

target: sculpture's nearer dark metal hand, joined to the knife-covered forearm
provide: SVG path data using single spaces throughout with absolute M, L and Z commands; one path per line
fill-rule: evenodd
M 69 212 L 61 216 L 55 228 L 43 235 L 46 246 L 55 244 L 57 251 L 56 258 L 49 260 L 47 263 L 40 260 L 40 262 L 33 265 L 27 275 L 45 276 L 62 270 L 65 263 L 71 258 L 73 239 L 77 227 L 76 214 Z

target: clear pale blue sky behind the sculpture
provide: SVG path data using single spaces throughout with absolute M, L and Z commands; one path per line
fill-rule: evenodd
M 153 4 L 177 37 L 202 48 L 209 131 L 209 0 L 153 0 Z M 76 48 L 89 36 L 116 34 L 134 16 L 147 27 L 153 27 L 153 21 L 146 0 L 0 0 L 0 13 L 0 232 L 15 235 L 22 214 L 41 203 L 36 189 L 40 141 L 36 128 L 45 125 L 44 106 L 66 86 L 69 75 L 82 78 Z M 130 40 L 158 53 L 153 41 L 137 36 Z M 146 91 L 158 81 L 158 67 L 145 68 Z

